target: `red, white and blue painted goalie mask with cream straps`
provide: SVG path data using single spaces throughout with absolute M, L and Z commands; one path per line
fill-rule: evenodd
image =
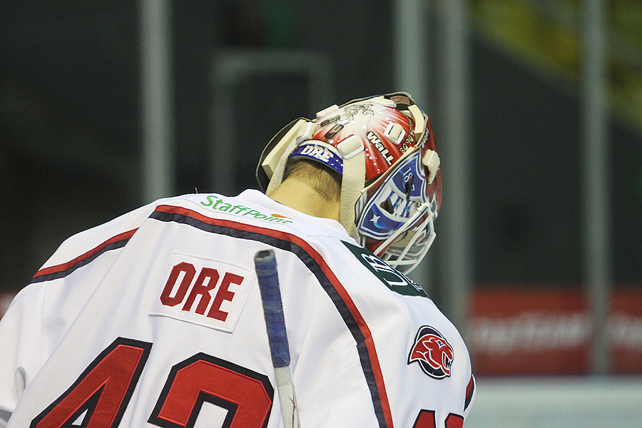
M 428 117 L 408 93 L 361 98 L 290 123 L 260 158 L 265 193 L 297 158 L 342 175 L 340 222 L 357 242 L 403 272 L 422 260 L 434 239 L 442 177 Z

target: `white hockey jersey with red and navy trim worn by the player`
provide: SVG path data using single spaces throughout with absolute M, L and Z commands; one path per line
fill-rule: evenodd
M 0 321 L 0 427 L 282 427 L 253 256 L 272 249 L 300 426 L 462 427 L 464 342 L 335 220 L 186 195 L 69 238 Z

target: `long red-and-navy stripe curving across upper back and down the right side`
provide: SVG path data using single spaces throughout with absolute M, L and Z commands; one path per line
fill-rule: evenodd
M 329 267 L 322 258 L 304 240 L 290 233 L 278 230 L 259 228 L 257 226 L 237 223 L 230 220 L 220 220 L 201 215 L 187 208 L 171 205 L 161 205 L 150 215 L 150 218 L 163 222 L 174 222 L 190 225 L 205 232 L 228 235 L 233 238 L 254 240 L 270 245 L 280 250 L 289 251 L 299 258 L 310 272 L 317 278 L 323 290 L 334 303 L 337 311 L 345 322 L 348 330 L 357 343 L 363 373 L 370 389 L 374 412 L 379 421 L 379 427 L 392 428 L 392 414 L 387 402 L 387 394 L 380 371 L 374 344 L 367 337 L 370 331 L 363 322 L 357 308 L 350 297 L 340 292 L 342 285 L 334 275 L 328 275 Z M 305 247 L 305 248 L 304 248 Z M 316 256 L 316 257 L 315 257 Z M 321 263 L 320 263 L 321 261 Z M 323 265 L 325 266 L 323 266 Z M 324 267 L 327 267 L 324 269 Z M 355 313 L 356 312 L 356 313 Z M 365 330 L 365 331 L 364 331 Z

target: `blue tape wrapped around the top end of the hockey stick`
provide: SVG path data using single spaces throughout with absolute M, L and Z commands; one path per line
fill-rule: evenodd
M 261 300 L 263 300 L 263 315 L 267 328 L 267 339 L 270 342 L 272 364 L 274 367 L 290 365 L 290 347 L 287 345 L 285 332 L 285 317 L 279 289 L 274 251 L 261 250 L 254 256 L 254 265 L 258 277 Z

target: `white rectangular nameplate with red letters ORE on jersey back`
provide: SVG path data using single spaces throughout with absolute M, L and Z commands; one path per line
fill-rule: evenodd
M 244 267 L 173 253 L 149 313 L 232 332 L 255 282 Z

